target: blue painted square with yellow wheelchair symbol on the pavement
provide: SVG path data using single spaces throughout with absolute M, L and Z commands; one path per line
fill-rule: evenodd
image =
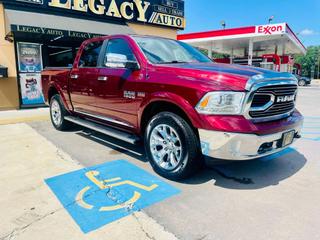
M 45 182 L 84 233 L 180 192 L 125 160 L 84 168 Z

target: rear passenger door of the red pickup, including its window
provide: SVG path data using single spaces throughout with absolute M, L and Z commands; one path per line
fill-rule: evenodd
M 96 113 L 95 91 L 99 75 L 97 64 L 102 44 L 103 41 L 96 41 L 84 46 L 79 65 L 74 66 L 70 73 L 70 97 L 73 108 L 78 113 Z

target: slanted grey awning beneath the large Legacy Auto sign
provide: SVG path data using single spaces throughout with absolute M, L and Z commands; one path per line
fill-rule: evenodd
M 5 10 L 6 33 L 12 31 L 12 25 L 23 25 L 60 29 L 66 31 L 88 32 L 101 35 L 131 34 L 134 33 L 127 25 L 95 22 L 78 18 L 61 17 L 48 14 Z

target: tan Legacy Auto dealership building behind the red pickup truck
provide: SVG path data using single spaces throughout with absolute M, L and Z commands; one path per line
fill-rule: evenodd
M 0 110 L 42 106 L 41 70 L 70 66 L 85 39 L 184 27 L 182 0 L 0 0 Z

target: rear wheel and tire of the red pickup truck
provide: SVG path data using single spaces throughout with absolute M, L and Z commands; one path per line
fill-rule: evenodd
M 64 119 L 67 115 L 69 113 L 62 103 L 60 95 L 54 95 L 50 100 L 50 118 L 55 129 L 64 131 L 71 128 L 72 124 Z

